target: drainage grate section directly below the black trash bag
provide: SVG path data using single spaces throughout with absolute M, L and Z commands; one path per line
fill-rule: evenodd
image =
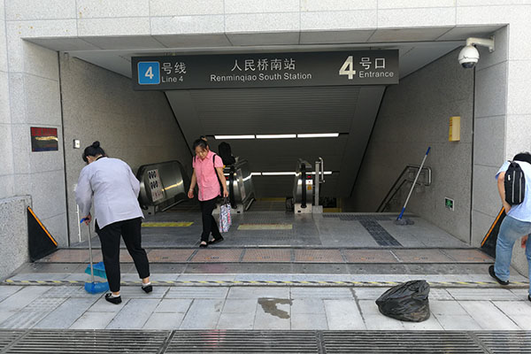
M 485 353 L 464 332 L 324 331 L 327 354 Z

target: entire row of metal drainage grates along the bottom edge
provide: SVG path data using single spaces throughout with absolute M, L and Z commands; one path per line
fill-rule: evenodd
M 531 331 L 0 329 L 0 353 L 531 354 Z

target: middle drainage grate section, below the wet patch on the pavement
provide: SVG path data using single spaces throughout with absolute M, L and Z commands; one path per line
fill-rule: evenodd
M 165 353 L 319 353 L 313 331 L 176 331 Z

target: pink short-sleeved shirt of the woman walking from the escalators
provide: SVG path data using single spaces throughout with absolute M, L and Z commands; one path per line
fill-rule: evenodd
M 216 159 L 212 164 L 212 158 L 214 156 Z M 216 167 L 223 167 L 221 158 L 212 151 L 208 151 L 204 160 L 196 156 L 192 165 L 194 166 L 194 171 L 196 171 L 197 186 L 199 186 L 199 200 L 211 200 L 216 196 L 220 196 L 219 181 L 214 165 Z

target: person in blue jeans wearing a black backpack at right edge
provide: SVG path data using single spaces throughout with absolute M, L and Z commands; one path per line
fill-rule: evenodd
M 521 238 L 526 248 L 527 266 L 531 279 L 531 154 L 521 152 L 512 161 L 506 161 L 496 173 L 497 187 L 505 216 L 496 242 L 496 262 L 489 266 L 489 274 L 501 285 L 509 284 L 512 247 Z M 531 301 L 531 284 L 527 299 Z

